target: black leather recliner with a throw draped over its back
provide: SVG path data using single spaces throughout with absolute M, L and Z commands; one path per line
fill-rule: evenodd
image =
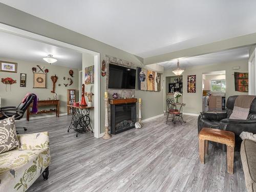
M 237 97 L 238 95 L 228 97 L 226 103 L 226 112 L 202 112 L 198 117 L 198 133 L 203 127 L 233 132 L 236 140 L 235 150 L 240 151 L 242 139 L 239 137 L 239 135 L 243 131 L 256 134 L 256 99 L 254 99 L 251 103 L 250 112 L 246 120 L 229 119 L 234 108 L 234 101 Z

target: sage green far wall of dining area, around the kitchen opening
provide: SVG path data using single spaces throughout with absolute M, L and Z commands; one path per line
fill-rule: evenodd
M 233 70 L 234 66 L 240 66 L 240 70 Z M 226 63 L 215 63 L 205 66 L 193 66 L 187 67 L 183 73 L 183 102 L 186 106 L 183 108 L 184 113 L 199 114 L 202 111 L 202 74 L 211 71 L 226 71 L 226 98 L 231 95 L 247 95 L 248 93 L 242 93 L 234 91 L 234 72 L 248 72 L 248 60 L 238 60 Z M 172 76 L 172 70 L 164 71 L 164 76 Z M 187 93 L 187 75 L 196 76 L 196 93 Z

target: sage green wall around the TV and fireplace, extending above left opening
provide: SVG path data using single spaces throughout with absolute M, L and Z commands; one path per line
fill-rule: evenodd
M 143 59 L 133 54 L 127 53 L 115 47 L 104 44 L 90 37 L 76 33 L 69 29 L 47 22 L 23 11 L 14 9 L 0 3 L 0 23 L 13 26 L 19 29 L 30 31 L 42 36 L 53 38 L 68 44 L 72 44 L 84 49 L 89 49 L 100 53 L 100 63 L 105 55 L 115 56 L 135 63 L 143 67 Z M 90 27 L 90 26 L 87 26 Z M 103 94 L 105 78 L 100 77 L 100 126 L 101 132 L 104 129 L 104 106 Z M 142 119 L 156 116 L 163 113 L 163 94 L 162 92 L 143 92 L 136 91 L 136 97 L 141 97 L 143 102 Z

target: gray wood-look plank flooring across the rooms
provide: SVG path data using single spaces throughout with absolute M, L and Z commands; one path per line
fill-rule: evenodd
M 240 154 L 233 175 L 226 153 L 211 144 L 201 164 L 197 117 L 184 119 L 165 124 L 161 117 L 109 140 L 67 133 L 70 116 L 20 121 L 27 133 L 50 133 L 49 179 L 39 177 L 28 191 L 246 191 Z

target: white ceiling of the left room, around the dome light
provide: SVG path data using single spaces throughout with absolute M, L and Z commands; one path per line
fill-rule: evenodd
M 0 57 L 33 62 L 45 62 L 42 58 L 52 54 L 58 61 L 52 65 L 78 68 L 82 54 L 69 49 L 45 44 L 25 37 L 0 31 Z

